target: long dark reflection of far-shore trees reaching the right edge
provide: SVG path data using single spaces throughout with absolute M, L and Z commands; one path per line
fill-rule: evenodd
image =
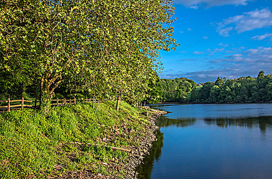
M 272 128 L 272 117 L 252 117 L 252 118 L 206 118 L 205 123 L 208 125 L 216 125 L 219 127 L 228 128 L 230 126 L 239 126 L 253 128 L 259 126 L 262 132 L 265 132 L 266 128 Z

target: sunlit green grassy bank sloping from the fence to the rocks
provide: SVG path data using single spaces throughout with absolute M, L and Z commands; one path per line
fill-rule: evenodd
M 106 170 L 105 163 L 120 163 L 127 153 L 102 145 L 137 146 L 132 139 L 148 122 L 125 102 L 119 112 L 115 102 L 101 103 L 97 114 L 91 105 L 54 107 L 47 117 L 34 109 L 0 114 L 0 178 L 62 176 L 86 168 L 122 177 L 122 171 Z

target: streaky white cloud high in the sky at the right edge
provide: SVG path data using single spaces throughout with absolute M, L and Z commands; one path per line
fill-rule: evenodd
M 272 26 L 272 13 L 269 9 L 254 10 L 244 12 L 242 15 L 237 15 L 224 19 L 217 23 L 217 32 L 221 36 L 230 36 L 230 32 L 235 30 L 238 33 L 261 29 Z

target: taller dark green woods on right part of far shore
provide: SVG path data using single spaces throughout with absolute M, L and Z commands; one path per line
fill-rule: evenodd
M 217 78 L 194 88 L 184 102 L 228 103 L 272 101 L 272 75 L 260 71 L 257 78 L 251 76 L 238 79 Z

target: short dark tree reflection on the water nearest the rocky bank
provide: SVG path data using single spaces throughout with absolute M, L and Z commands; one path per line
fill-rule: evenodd
M 178 118 L 178 119 L 169 119 L 166 116 L 161 116 L 158 119 L 156 125 L 159 127 L 175 125 L 177 127 L 188 127 L 194 125 L 196 118 Z

